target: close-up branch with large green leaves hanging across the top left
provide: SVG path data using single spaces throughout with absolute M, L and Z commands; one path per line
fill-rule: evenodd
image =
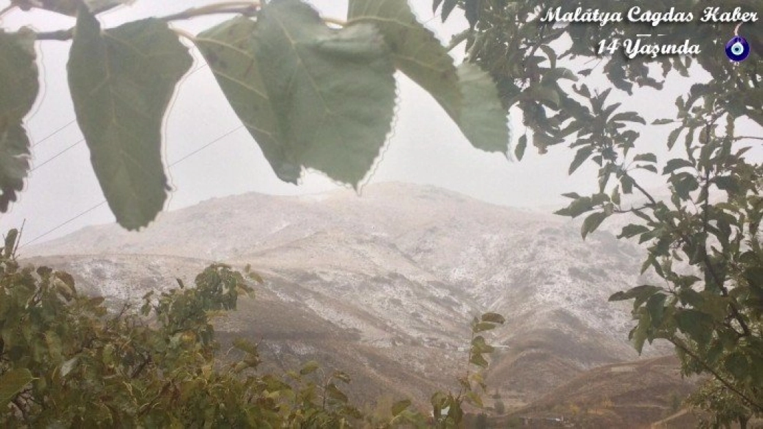
M 14 0 L 77 22 L 52 33 L 0 30 L 0 85 L 16 88 L 0 99 L 0 210 L 29 171 L 21 120 L 37 97 L 34 40 L 73 39 L 67 71 L 76 120 L 108 205 L 127 229 L 146 226 L 166 202 L 161 125 L 192 62 L 181 37 L 201 50 L 282 181 L 297 183 L 312 168 L 357 186 L 391 132 L 398 70 L 432 94 L 475 148 L 508 154 L 494 82 L 478 66 L 456 66 L 406 0 L 351 0 L 346 22 L 324 20 L 301 0 L 276 0 L 213 3 L 101 28 L 95 15 L 120 3 Z M 168 25 L 221 13 L 234 16 L 198 35 Z

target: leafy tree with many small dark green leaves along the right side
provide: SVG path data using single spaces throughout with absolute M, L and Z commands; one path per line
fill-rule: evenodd
M 610 216 L 628 215 L 621 239 L 639 239 L 648 246 L 642 274 L 651 271 L 655 284 L 616 293 L 610 300 L 633 301 L 636 326 L 630 339 L 640 352 L 645 341 L 665 339 L 676 347 L 687 373 L 710 373 L 755 413 L 763 412 L 763 165 L 745 156 L 759 148 L 757 136 L 740 135 L 737 125 L 750 120 L 763 126 L 763 63 L 759 53 L 744 62 L 723 54 L 726 40 L 739 32 L 760 40 L 760 26 L 738 22 L 700 23 L 705 2 L 653 1 L 642 10 L 692 12 L 689 23 L 663 23 L 660 43 L 690 40 L 702 43 L 696 56 L 626 57 L 623 50 L 600 55 L 599 40 L 635 40 L 650 24 L 554 25 L 540 18 L 549 10 L 600 9 L 627 14 L 629 2 L 537 0 L 435 0 L 445 20 L 458 6 L 470 28 L 453 41 L 465 42 L 467 58 L 491 73 L 504 107 L 519 107 L 529 133 L 520 137 L 521 158 L 529 138 L 541 153 L 567 143 L 575 149 L 572 174 L 586 162 L 598 167 L 597 189 L 590 196 L 565 194 L 571 203 L 560 215 L 586 214 L 585 238 Z M 759 0 L 724 3 L 726 8 L 760 11 Z M 565 50 L 559 53 L 559 47 Z M 760 45 L 758 45 L 759 48 Z M 637 150 L 639 128 L 648 126 L 641 114 L 620 110 L 609 100 L 612 88 L 592 91 L 570 85 L 578 75 L 600 67 L 613 88 L 629 94 L 639 88 L 660 89 L 673 73 L 689 75 L 694 66 L 709 73 L 675 101 L 674 118 L 651 126 L 674 126 L 665 146 L 670 158 L 658 162 L 654 153 Z M 575 61 L 572 61 L 575 60 Z M 661 66 L 658 72 L 653 64 Z M 571 81 L 571 82 L 565 82 Z M 528 136 L 530 134 L 530 136 Z M 683 144 L 678 147 L 679 137 Z M 662 167 L 662 171 L 659 167 Z M 668 187 L 661 198 L 639 178 L 654 174 Z M 640 183 L 639 183 L 640 182 Z M 626 198 L 626 194 L 639 198 Z M 710 405 L 713 409 L 713 405 Z M 722 410 L 713 410 L 722 412 Z

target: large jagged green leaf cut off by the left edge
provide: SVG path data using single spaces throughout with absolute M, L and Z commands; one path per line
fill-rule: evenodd
M 33 37 L 0 31 L 0 212 L 16 200 L 29 171 L 29 139 L 21 120 L 40 89 L 34 61 Z

